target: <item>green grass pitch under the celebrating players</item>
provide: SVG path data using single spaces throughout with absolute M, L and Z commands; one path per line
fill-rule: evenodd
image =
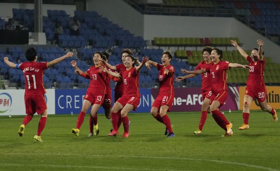
M 77 114 L 48 115 L 44 142 L 34 142 L 39 116 L 17 131 L 24 116 L 0 116 L 0 170 L 93 170 L 93 171 L 277 171 L 280 170 L 280 123 L 271 114 L 252 111 L 249 130 L 240 131 L 242 112 L 225 112 L 233 124 L 233 136 L 208 114 L 203 134 L 194 135 L 200 113 L 168 114 L 175 138 L 164 135 L 165 126 L 150 114 L 130 114 L 130 137 L 108 137 L 111 122 L 98 115 L 100 133 L 87 137 L 88 118 L 75 137 Z

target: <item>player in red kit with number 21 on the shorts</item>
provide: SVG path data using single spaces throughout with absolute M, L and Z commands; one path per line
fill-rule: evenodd
M 173 99 L 174 99 L 174 74 L 175 69 L 170 64 L 172 60 L 172 54 L 169 51 L 164 51 L 162 54 L 162 64 L 148 60 L 146 66 L 148 69 L 149 65 L 152 65 L 157 68 L 159 71 L 159 81 L 160 81 L 160 91 L 155 99 L 152 108 L 151 114 L 159 122 L 165 124 L 167 137 L 175 137 L 175 134 L 172 131 L 172 126 L 170 118 L 167 113 L 171 110 Z

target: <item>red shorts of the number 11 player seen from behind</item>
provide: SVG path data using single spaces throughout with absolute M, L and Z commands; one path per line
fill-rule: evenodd
M 42 114 L 47 109 L 44 94 L 24 95 L 26 114 Z

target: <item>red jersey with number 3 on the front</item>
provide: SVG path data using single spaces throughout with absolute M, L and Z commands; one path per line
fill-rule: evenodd
M 220 60 L 216 64 L 212 62 L 212 65 L 205 68 L 206 71 L 212 75 L 212 91 L 215 95 L 217 95 L 216 93 L 219 91 L 227 91 L 226 70 L 229 69 L 228 65 L 228 61 Z

